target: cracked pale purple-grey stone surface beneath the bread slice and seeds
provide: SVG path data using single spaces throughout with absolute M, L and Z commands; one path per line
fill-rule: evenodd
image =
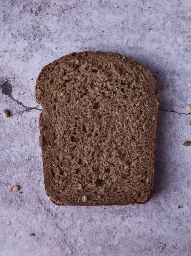
M 0 109 L 11 113 L 0 114 L 0 256 L 191 255 L 190 13 L 190 0 L 0 1 Z M 46 196 L 35 81 L 45 64 L 89 49 L 135 58 L 159 84 L 148 204 L 59 207 Z

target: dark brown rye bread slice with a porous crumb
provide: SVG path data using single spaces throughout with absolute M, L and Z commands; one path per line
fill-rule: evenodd
M 150 199 L 159 96 L 145 67 L 112 52 L 73 52 L 43 67 L 35 97 L 45 188 L 55 204 Z

